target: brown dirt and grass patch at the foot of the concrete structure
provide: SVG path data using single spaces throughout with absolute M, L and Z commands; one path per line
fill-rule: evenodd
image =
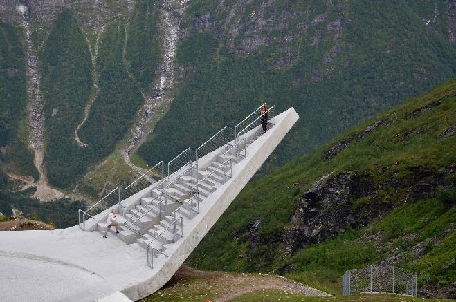
M 160 301 L 162 297 L 166 301 L 172 301 L 174 297 L 188 299 L 190 296 L 195 301 L 201 301 L 201 298 L 230 301 L 242 294 L 259 290 L 283 290 L 304 296 L 331 296 L 282 276 L 208 272 L 183 265 L 161 290 L 151 296 L 153 299 L 150 301 Z

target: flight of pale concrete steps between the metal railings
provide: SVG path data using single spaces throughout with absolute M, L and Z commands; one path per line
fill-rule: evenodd
M 245 148 L 255 142 L 262 133 L 262 129 L 250 133 L 246 138 Z M 228 168 L 221 167 L 221 164 L 227 160 L 230 160 L 233 166 L 238 164 L 244 159 L 241 154 L 245 151 L 244 146 L 232 148 L 232 145 L 227 144 L 207 164 L 198 167 L 198 180 L 201 180 L 198 185 L 199 202 L 204 202 L 229 179 L 226 176 Z M 116 228 L 111 227 L 111 234 L 127 245 L 138 243 L 145 249 L 149 245 L 149 249 L 159 251 L 153 253 L 154 258 L 164 257 L 162 253 L 167 250 L 167 245 L 176 243 L 181 238 L 179 231 L 195 216 L 197 205 L 194 204 L 192 209 L 190 204 L 190 190 L 197 184 L 194 173 L 189 169 L 172 183 L 163 181 L 158 187 L 147 191 L 138 204 L 124 215 L 117 214 L 119 233 L 116 234 Z M 175 211 L 174 216 L 179 216 L 179 220 L 175 223 L 173 211 Z M 135 223 L 131 224 L 132 222 Z M 98 223 L 100 233 L 104 234 L 106 229 L 107 222 Z

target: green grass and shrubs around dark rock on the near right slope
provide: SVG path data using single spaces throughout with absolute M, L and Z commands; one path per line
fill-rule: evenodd
M 404 203 L 405 195 L 399 187 L 379 189 L 369 202 L 356 200 L 353 213 L 385 204 L 396 209 L 364 229 L 349 229 L 289 256 L 284 256 L 287 252 L 282 238 L 302 194 L 331 172 L 363 173 L 372 178 L 374 187 L 379 187 L 392 178 L 407 183 L 413 167 L 436 175 L 439 169 L 454 167 L 455 137 L 444 133 L 456 120 L 455 95 L 453 80 L 359 124 L 331 144 L 275 169 L 267 177 L 250 182 L 190 255 L 190 265 L 235 272 L 286 272 L 285 267 L 292 267 L 286 276 L 339 294 L 340 276 L 345 270 L 381 261 L 391 249 L 398 248 L 403 254 L 401 265 L 417 271 L 420 283 L 454 282 L 456 266 L 452 259 L 456 258 L 456 251 L 450 247 L 455 243 L 455 231 L 451 231 L 456 221 L 453 189 L 442 189 L 436 196 L 412 203 Z M 381 126 L 357 139 L 380 120 L 384 121 Z M 323 160 L 329 147 L 340 141 L 351 144 L 336 157 Z M 455 183 L 452 173 L 446 180 Z M 248 227 L 259 218 L 253 244 Z M 375 234 L 381 236 L 382 249 L 360 239 Z M 410 248 L 422 241 L 428 246 L 424 256 L 417 258 Z

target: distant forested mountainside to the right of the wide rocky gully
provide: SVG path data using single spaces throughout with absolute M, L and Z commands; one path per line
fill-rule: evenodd
M 408 2 L 192 1 L 181 84 L 138 154 L 149 164 L 169 159 L 265 100 L 301 116 L 271 158 L 283 163 L 455 77 L 455 46 L 442 29 L 448 1 Z M 431 6 L 440 17 L 426 25 Z

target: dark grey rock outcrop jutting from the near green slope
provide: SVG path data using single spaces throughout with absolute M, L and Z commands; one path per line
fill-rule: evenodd
M 447 176 L 455 173 L 456 167 L 408 170 L 407 179 L 391 178 L 380 184 L 372 176 L 354 172 L 322 177 L 302 196 L 291 217 L 291 228 L 284 232 L 290 252 L 336 236 L 349 227 L 364 227 L 403 202 L 430 198 L 438 188 L 452 186 Z M 396 200 L 383 200 L 382 192 Z

